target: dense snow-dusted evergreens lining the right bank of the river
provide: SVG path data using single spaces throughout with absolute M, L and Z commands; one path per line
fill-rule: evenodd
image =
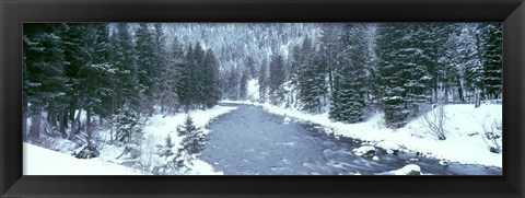
M 308 113 L 329 107 L 330 118 L 347 123 L 363 121 L 366 108 L 380 107 L 387 126 L 400 128 L 421 105 L 479 106 L 502 97 L 501 24 L 320 27 L 317 43 L 304 37 L 287 59 L 261 67 L 261 101 L 292 103 Z

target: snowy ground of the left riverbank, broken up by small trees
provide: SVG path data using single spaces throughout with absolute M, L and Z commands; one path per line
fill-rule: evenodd
M 236 107 L 231 106 L 214 106 L 213 108 L 201 110 L 190 110 L 189 116 L 192 118 L 196 127 L 205 128 L 215 117 L 226 114 Z M 156 145 L 163 144 L 165 138 L 170 136 L 175 145 L 182 141 L 182 137 L 177 136 L 176 128 L 183 125 L 186 119 L 186 114 L 176 115 L 153 115 L 144 126 L 144 142 L 142 143 L 142 155 L 139 158 L 142 164 L 151 167 L 162 163 L 156 159 Z M 203 129 L 206 132 L 210 132 Z M 109 130 L 97 132 L 98 136 L 106 137 L 107 140 Z M 132 170 L 120 163 L 124 159 L 117 159 L 122 151 L 122 147 L 105 143 L 101 150 L 101 156 L 90 160 L 80 160 L 71 155 L 74 149 L 74 143 L 61 138 L 46 138 L 44 147 L 51 149 L 44 149 L 42 147 L 24 143 L 24 175 L 136 175 L 136 174 L 151 174 L 149 172 Z M 67 147 L 66 147 L 67 145 Z M 175 148 L 176 149 L 176 148 Z M 56 150 L 56 151 L 54 151 Z M 174 150 L 176 151 L 176 150 Z M 191 162 L 191 171 L 185 173 L 189 175 L 218 175 L 221 172 L 215 172 L 212 165 L 201 161 L 195 160 Z

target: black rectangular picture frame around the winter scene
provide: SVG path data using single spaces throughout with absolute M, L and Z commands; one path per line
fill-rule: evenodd
M 23 176 L 24 22 L 503 22 L 503 176 Z M 523 0 L 0 0 L 1 197 L 524 197 Z

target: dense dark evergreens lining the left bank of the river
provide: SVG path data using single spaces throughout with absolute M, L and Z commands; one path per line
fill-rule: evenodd
M 212 50 L 167 42 L 164 32 L 145 23 L 24 24 L 23 97 L 31 118 L 24 139 L 83 136 L 90 145 L 100 121 L 131 148 L 152 114 L 215 105 L 221 93 Z

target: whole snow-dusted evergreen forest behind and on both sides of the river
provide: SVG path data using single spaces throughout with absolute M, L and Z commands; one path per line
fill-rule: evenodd
M 23 32 L 24 141 L 82 142 L 83 158 L 98 155 L 94 131 L 139 153 L 152 117 L 221 100 L 346 124 L 382 112 L 390 129 L 444 104 L 502 101 L 500 23 L 25 23 Z

